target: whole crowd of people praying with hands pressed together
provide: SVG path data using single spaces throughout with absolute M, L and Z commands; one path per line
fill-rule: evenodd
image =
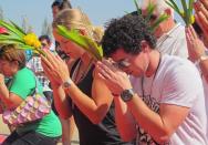
M 149 2 L 154 12 L 146 21 Z M 38 122 L 11 126 L 2 145 L 208 145 L 208 0 L 194 2 L 196 22 L 184 27 L 165 0 L 144 1 L 133 11 L 95 27 L 67 0 L 55 0 L 53 45 L 46 55 L 15 44 L 0 48 L 0 100 L 18 107 L 35 87 L 52 110 Z M 152 31 L 162 14 L 168 18 Z M 103 59 L 58 32 L 77 30 L 103 48 Z M 91 48 L 89 48 L 91 49 Z M 38 80 L 38 84 L 35 83 Z

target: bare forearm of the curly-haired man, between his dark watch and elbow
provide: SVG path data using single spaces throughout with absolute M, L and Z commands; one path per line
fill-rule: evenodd
M 168 141 L 169 135 L 174 131 L 171 131 L 166 121 L 163 120 L 159 114 L 152 111 L 137 94 L 127 102 L 127 106 L 138 126 L 147 132 L 157 143 Z

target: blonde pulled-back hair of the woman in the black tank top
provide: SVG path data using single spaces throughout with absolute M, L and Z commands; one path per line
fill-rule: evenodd
M 84 30 L 91 39 L 100 42 L 103 37 L 103 28 L 94 27 L 89 17 L 80 9 L 64 9 L 53 20 L 53 28 L 59 24 L 70 29 Z

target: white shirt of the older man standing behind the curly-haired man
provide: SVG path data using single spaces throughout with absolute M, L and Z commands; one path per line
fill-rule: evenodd
M 157 40 L 157 50 L 162 54 L 178 55 L 188 58 L 185 27 L 177 23 L 170 31 L 164 33 Z

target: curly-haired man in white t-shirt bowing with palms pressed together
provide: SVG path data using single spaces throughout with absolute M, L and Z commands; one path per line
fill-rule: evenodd
M 198 70 L 185 59 L 160 54 L 141 15 L 110 22 L 96 74 L 114 94 L 116 124 L 137 144 L 207 145 L 207 116 Z M 127 74 L 139 77 L 129 81 Z

